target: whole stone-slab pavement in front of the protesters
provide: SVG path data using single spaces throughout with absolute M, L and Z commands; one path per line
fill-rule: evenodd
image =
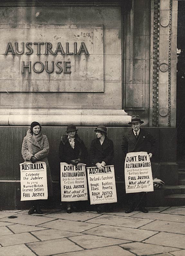
M 185 256 L 185 206 L 149 213 L 0 212 L 0 256 Z

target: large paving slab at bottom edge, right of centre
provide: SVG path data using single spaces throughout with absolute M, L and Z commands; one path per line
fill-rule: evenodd
M 176 251 L 176 248 L 160 246 L 155 244 L 144 244 L 140 242 L 121 244 L 120 246 L 125 250 L 128 250 L 134 253 L 135 255 L 139 256 Z

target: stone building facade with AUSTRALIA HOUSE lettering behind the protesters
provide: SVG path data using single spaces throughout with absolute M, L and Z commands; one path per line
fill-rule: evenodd
M 49 139 L 56 191 L 58 145 L 66 126 L 79 127 L 89 148 L 94 128 L 104 124 L 115 145 L 122 202 L 121 138 L 135 113 L 158 139 L 153 176 L 178 185 L 178 1 L 12 0 L 0 6 L 0 169 L 1 190 L 6 191 L 1 207 L 25 207 L 19 163 L 32 121 L 41 123 Z M 164 193 L 160 199 L 157 193 L 152 196 L 164 205 Z

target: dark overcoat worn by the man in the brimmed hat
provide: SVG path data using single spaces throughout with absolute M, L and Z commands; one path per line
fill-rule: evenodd
M 136 139 L 133 129 L 125 132 L 123 136 L 122 150 L 125 154 L 130 152 L 144 151 L 154 154 L 157 140 L 149 133 L 140 128 L 138 139 Z

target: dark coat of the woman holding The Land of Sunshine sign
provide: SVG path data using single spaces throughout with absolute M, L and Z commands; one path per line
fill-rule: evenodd
M 100 144 L 99 138 L 94 139 L 90 146 L 91 164 L 95 166 L 96 163 L 104 161 L 106 165 L 113 165 L 114 144 L 112 140 L 105 135 L 103 144 Z

